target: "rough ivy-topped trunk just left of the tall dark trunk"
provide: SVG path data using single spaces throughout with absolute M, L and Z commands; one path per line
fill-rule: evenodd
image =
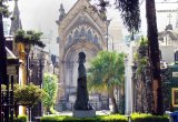
M 134 63 L 135 112 L 151 113 L 154 100 L 147 39 L 140 40 Z

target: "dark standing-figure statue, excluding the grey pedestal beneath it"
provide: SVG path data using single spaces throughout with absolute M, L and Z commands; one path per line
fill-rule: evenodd
M 86 62 L 86 54 L 83 52 L 79 52 L 78 62 L 78 85 L 75 110 L 92 110 L 87 91 L 87 72 L 86 67 L 83 65 Z

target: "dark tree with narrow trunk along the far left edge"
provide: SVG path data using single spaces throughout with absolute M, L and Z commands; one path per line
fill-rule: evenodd
M 9 104 L 9 81 L 7 77 L 7 52 L 6 52 L 6 39 L 3 33 L 3 18 L 8 18 L 10 16 L 8 11 L 8 7 L 4 4 L 6 0 L 0 0 L 0 85 L 6 84 L 7 85 L 7 95 L 6 95 L 6 103 Z M 0 87 L 0 101 L 1 100 L 1 87 Z M 9 106 L 6 108 L 4 112 L 4 120 L 9 121 L 9 118 L 13 118 L 13 115 L 9 115 Z M 2 109 L 0 110 L 2 112 Z M 2 115 L 0 115 L 0 120 L 2 119 Z

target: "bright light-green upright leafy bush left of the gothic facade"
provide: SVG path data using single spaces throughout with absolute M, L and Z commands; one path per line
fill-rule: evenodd
M 42 102 L 43 102 L 43 105 L 46 106 L 46 110 L 49 111 L 50 108 L 53 106 L 55 100 L 57 98 L 57 90 L 58 90 L 57 75 L 44 73 L 42 89 L 47 93 Z

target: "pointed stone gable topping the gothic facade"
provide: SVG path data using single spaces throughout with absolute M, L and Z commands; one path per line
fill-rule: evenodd
M 93 9 L 88 0 L 78 0 L 77 3 L 69 10 L 62 21 L 58 21 L 58 31 L 60 37 L 66 37 L 70 30 L 82 24 L 82 19 L 87 20 L 100 34 L 106 33 L 107 24 L 101 19 L 101 16 Z

